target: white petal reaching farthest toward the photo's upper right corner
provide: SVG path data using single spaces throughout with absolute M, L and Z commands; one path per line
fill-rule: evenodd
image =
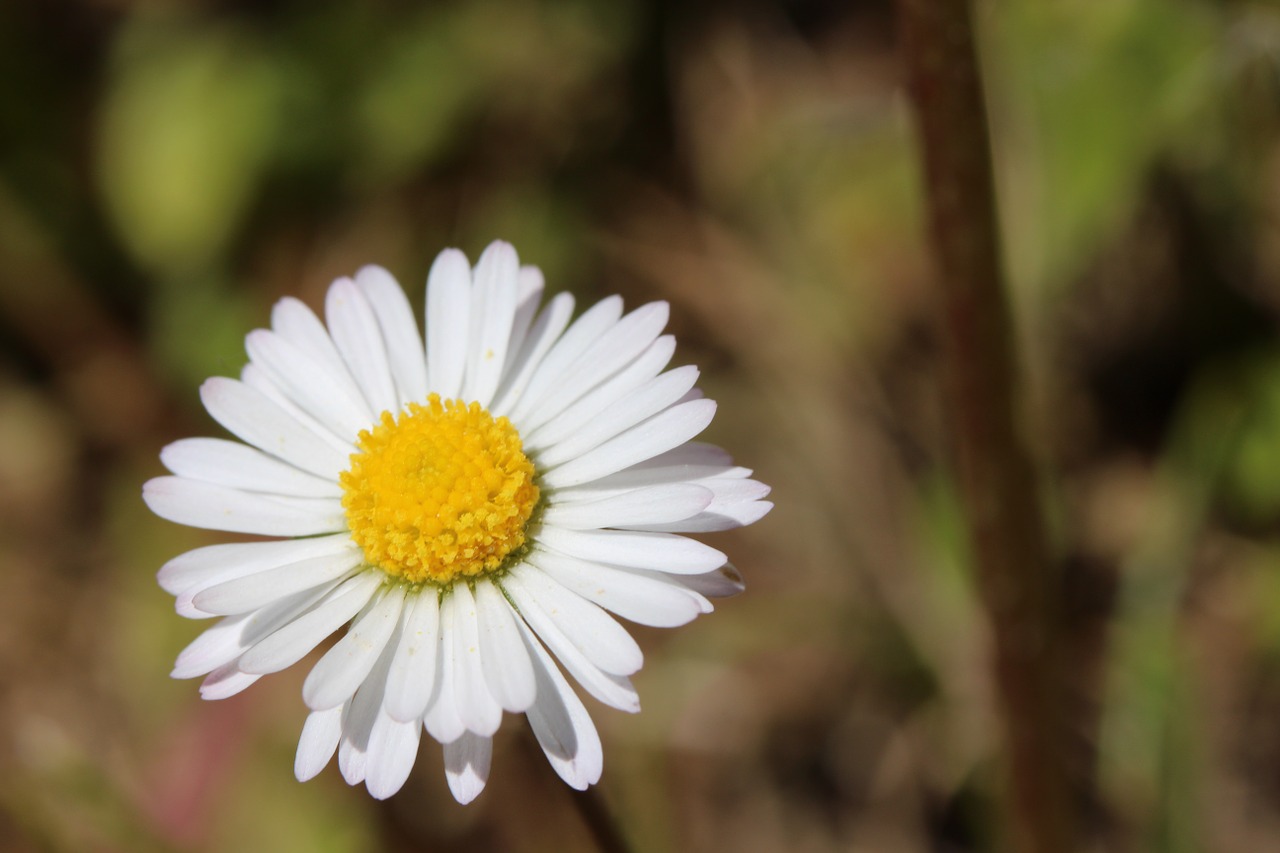
M 654 342 L 671 315 L 666 302 L 650 302 L 618 320 L 609 333 L 593 343 L 564 371 L 554 387 L 532 407 L 521 426 L 536 428 L 561 414 L 576 400 L 622 370 Z M 684 392 L 681 392 L 684 393 Z

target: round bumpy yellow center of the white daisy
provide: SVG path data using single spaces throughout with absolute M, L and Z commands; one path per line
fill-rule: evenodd
M 361 430 L 342 473 L 351 537 L 388 575 L 448 584 L 500 569 L 538 505 L 520 433 L 477 402 L 410 403 Z

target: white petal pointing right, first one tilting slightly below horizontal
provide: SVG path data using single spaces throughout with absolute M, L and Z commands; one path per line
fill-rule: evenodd
M 539 544 L 580 560 L 675 575 L 698 575 L 724 565 L 723 552 L 673 533 L 637 530 L 566 530 L 544 526 Z

